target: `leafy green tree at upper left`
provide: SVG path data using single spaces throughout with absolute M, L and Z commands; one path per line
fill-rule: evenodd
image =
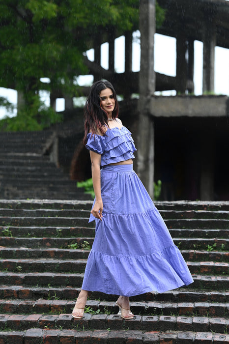
M 98 35 L 137 29 L 138 6 L 138 0 L 1 0 L 0 86 L 23 95 L 20 125 L 41 129 L 59 119 L 42 106 L 39 90 L 79 94 L 73 80 L 86 74 L 84 52 Z

